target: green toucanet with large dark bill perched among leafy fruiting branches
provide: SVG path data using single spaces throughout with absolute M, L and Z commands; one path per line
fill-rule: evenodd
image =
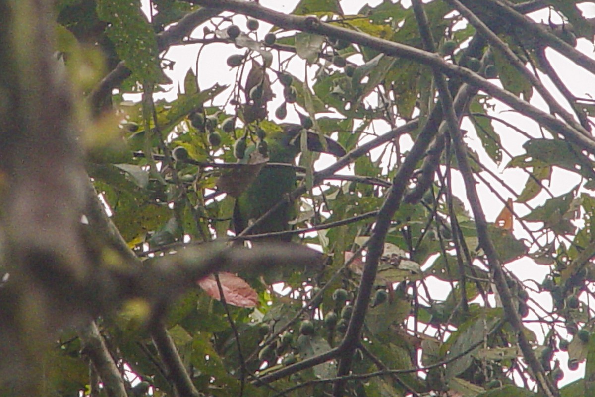
M 293 164 L 300 152 L 300 133 L 303 127 L 299 124 L 281 124 L 283 131 L 269 133 L 268 143 L 269 162 Z M 336 141 L 325 137 L 326 148 L 320 141 L 320 135 L 308 131 L 308 149 L 317 152 L 342 157 L 345 149 Z M 296 186 L 296 173 L 291 167 L 264 167 L 247 188 L 236 199 L 233 211 L 233 229 L 236 235 L 249 226 L 250 221 L 262 217 L 274 207 L 284 195 L 290 193 Z M 294 206 L 287 202 L 278 211 L 271 214 L 262 224 L 250 231 L 250 234 L 282 232 L 289 230 L 288 222 L 293 218 Z M 281 241 L 289 241 L 291 236 L 284 236 Z

